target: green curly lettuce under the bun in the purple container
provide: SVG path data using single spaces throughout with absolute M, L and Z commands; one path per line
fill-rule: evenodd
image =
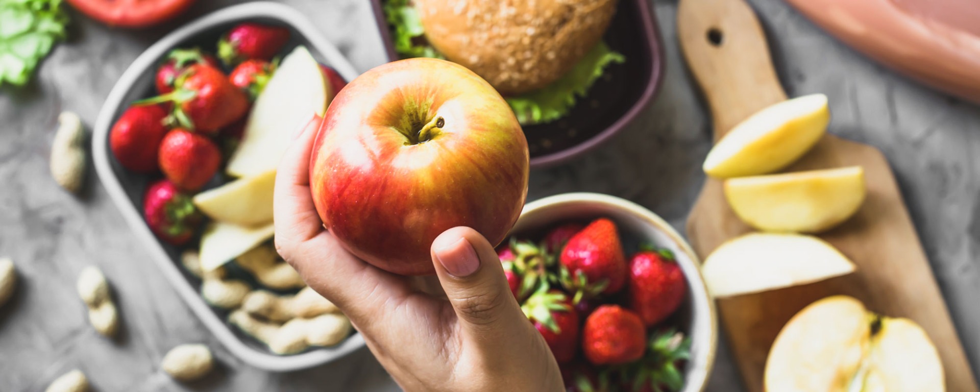
M 425 29 L 411 0 L 388 0 L 384 3 L 383 11 L 385 20 L 391 26 L 391 39 L 399 56 L 443 58 L 441 53 L 425 43 Z M 614 52 L 605 42 L 599 42 L 554 83 L 508 97 L 507 103 L 514 110 L 517 121 L 523 125 L 554 122 L 571 111 L 575 102 L 588 93 L 607 67 L 625 61 L 625 57 Z

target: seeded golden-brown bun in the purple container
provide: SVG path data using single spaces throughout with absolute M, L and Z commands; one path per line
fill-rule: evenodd
M 503 95 L 554 82 L 595 46 L 616 0 L 415 0 L 425 38 Z

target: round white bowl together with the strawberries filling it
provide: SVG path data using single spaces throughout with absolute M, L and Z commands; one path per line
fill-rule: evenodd
M 626 200 L 566 193 L 528 203 L 497 249 L 568 391 L 702 391 L 714 305 L 691 247 Z

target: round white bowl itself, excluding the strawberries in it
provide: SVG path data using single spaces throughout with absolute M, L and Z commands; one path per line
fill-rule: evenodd
M 511 234 L 540 235 L 549 227 L 568 221 L 609 218 L 616 223 L 623 246 L 636 249 L 640 242 L 667 248 L 687 278 L 688 295 L 675 318 L 680 330 L 691 337 L 691 359 L 684 369 L 683 392 L 701 392 L 708 382 L 717 348 L 714 302 L 701 276 L 698 256 L 670 224 L 636 203 L 598 193 L 564 193 L 524 206 Z

